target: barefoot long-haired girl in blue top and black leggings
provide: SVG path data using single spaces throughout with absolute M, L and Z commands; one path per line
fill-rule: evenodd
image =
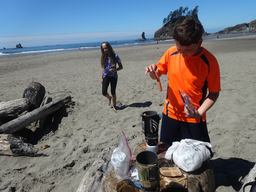
M 111 104 L 111 99 L 113 100 L 113 108 L 116 111 L 116 84 L 117 84 L 117 71 L 123 69 L 120 58 L 114 52 L 113 48 L 108 42 L 103 42 L 100 45 L 101 49 L 101 84 L 102 84 L 102 94 L 108 98 L 108 105 Z M 118 68 L 116 68 L 116 63 Z M 111 95 L 108 94 L 108 86 L 110 83 Z

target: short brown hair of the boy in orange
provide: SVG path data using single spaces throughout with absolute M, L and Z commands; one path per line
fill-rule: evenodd
M 188 17 L 176 25 L 173 32 L 173 39 L 181 46 L 197 44 L 202 38 L 203 26 L 201 22 L 193 17 Z

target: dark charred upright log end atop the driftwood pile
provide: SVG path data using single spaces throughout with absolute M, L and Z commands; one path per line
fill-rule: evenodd
M 31 82 L 25 89 L 22 98 L 27 98 L 31 103 L 31 107 L 28 111 L 33 111 L 39 108 L 42 101 L 44 100 L 45 88 L 40 83 Z

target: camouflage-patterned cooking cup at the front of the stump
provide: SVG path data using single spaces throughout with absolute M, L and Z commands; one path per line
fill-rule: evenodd
M 136 164 L 142 191 L 160 191 L 157 154 L 153 151 L 142 151 L 136 156 Z

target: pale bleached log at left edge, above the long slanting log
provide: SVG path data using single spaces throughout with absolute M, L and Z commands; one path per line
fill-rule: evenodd
M 27 98 L 16 99 L 12 101 L 0 102 L 0 115 L 13 115 L 15 113 L 22 113 L 27 111 L 31 103 Z

